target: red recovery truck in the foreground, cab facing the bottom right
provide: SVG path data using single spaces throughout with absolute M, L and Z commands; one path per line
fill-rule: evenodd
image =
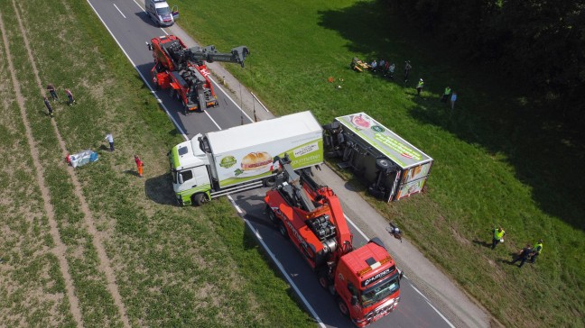
M 390 314 L 400 301 L 402 272 L 384 243 L 374 238 L 354 249 L 333 190 L 318 185 L 307 170 L 294 171 L 286 157 L 279 160 L 282 172 L 265 196 L 270 220 L 358 327 Z

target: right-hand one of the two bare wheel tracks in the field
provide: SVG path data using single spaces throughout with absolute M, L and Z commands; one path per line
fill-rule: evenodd
M 16 15 L 16 20 L 18 21 L 19 29 L 22 32 L 24 46 L 25 46 L 26 51 L 28 53 L 29 60 L 31 61 L 31 64 L 32 64 L 32 72 L 33 72 L 34 78 L 36 80 L 37 86 L 39 87 L 41 94 L 45 95 L 45 90 L 42 87 L 41 77 L 39 77 L 39 70 L 36 67 L 36 63 L 34 61 L 34 56 L 32 55 L 32 49 L 31 49 L 31 46 L 29 44 L 28 37 L 26 36 L 26 30 L 25 30 L 24 25 L 23 25 L 23 20 L 21 18 L 20 13 L 19 13 L 19 11 L 21 9 L 16 5 L 14 0 L 12 1 L 12 3 L 14 6 L 14 13 Z M 11 69 L 11 73 L 14 74 L 12 69 Z M 15 80 L 15 75 L 14 75 L 14 83 L 15 84 L 17 83 L 17 81 Z M 22 100 L 22 102 L 23 102 L 23 100 Z M 24 108 L 23 108 L 23 104 L 22 104 L 21 112 L 23 112 L 23 111 L 24 111 Z M 23 115 L 23 119 L 26 119 L 26 116 Z M 51 120 L 51 124 L 52 124 L 53 129 L 55 131 L 55 134 L 57 136 L 57 140 L 59 141 L 60 150 L 61 150 L 61 157 L 65 158 L 67 156 L 67 148 L 65 146 L 65 141 L 63 141 L 63 138 L 60 135 L 59 127 L 57 126 L 56 120 Z M 32 134 L 30 135 L 30 138 L 32 138 Z M 31 142 L 31 139 L 29 139 L 29 142 Z M 38 159 L 38 154 L 37 154 L 37 157 L 35 157 L 34 159 Z M 38 166 L 37 161 L 35 161 L 35 165 Z M 41 169 L 40 166 L 39 166 L 39 169 Z M 41 172 L 42 171 L 39 171 L 39 174 L 42 174 Z M 124 305 L 124 302 L 122 302 L 122 296 L 120 295 L 119 288 L 116 284 L 116 276 L 114 274 L 114 270 L 112 269 L 110 260 L 107 257 L 107 252 L 106 252 L 106 249 L 104 248 L 104 244 L 102 242 L 100 232 L 98 232 L 98 229 L 96 228 L 96 224 L 94 223 L 93 215 L 91 214 L 91 211 L 89 210 L 88 202 L 85 199 L 85 196 L 83 196 L 83 192 L 81 190 L 81 185 L 79 184 L 79 179 L 77 178 L 77 175 L 75 174 L 75 170 L 73 168 L 71 168 L 70 166 L 67 167 L 67 172 L 70 175 L 70 179 L 73 183 L 75 196 L 77 196 L 77 198 L 79 200 L 79 205 L 81 206 L 81 212 L 83 213 L 84 222 L 86 223 L 86 225 L 88 227 L 89 234 L 91 234 L 93 246 L 96 249 L 96 251 L 98 252 L 99 269 L 101 269 L 101 271 L 104 272 L 104 274 L 106 275 L 107 290 L 114 298 L 114 303 L 115 303 L 116 308 L 118 310 L 118 314 L 120 315 L 120 318 L 122 319 L 122 322 L 124 323 L 125 327 L 130 327 L 130 321 L 128 320 L 128 317 L 126 315 L 125 305 Z M 48 190 L 47 190 L 47 196 L 48 196 Z M 54 221 L 54 216 L 53 216 L 52 221 L 56 224 L 56 222 Z M 55 228 L 56 228 L 56 225 L 55 225 Z M 57 232 L 57 233 L 59 233 L 59 232 Z M 63 247 L 64 247 L 64 245 L 63 245 Z M 79 310 L 79 300 L 78 300 L 77 304 L 78 304 L 77 307 Z M 80 312 L 79 312 L 79 323 L 81 323 Z

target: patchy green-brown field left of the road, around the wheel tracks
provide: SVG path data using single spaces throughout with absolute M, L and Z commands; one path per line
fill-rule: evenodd
M 83 323 L 120 326 L 92 235 L 42 105 L 13 2 L 0 4 Z M 51 82 L 59 89 L 54 120 L 67 149 L 99 152 L 98 162 L 75 172 L 130 323 L 311 326 L 311 318 L 267 264 L 227 201 L 204 208 L 173 205 L 165 154 L 181 136 L 87 3 L 63 0 L 46 5 L 32 0 L 17 5 L 42 84 Z M 0 68 L 4 80 L 10 81 L 4 58 Z M 71 88 L 77 105 L 65 105 L 65 87 Z M 5 154 L 0 160 L 1 209 L 6 214 L 0 240 L 5 296 L 0 318 L 9 326 L 70 326 L 74 323 L 63 278 L 48 251 L 53 245 L 23 140 L 23 123 L 11 100 L 12 83 L 4 84 L 0 92 L 5 99 L 0 121 L 0 147 Z M 113 153 L 102 140 L 106 132 L 116 138 Z M 146 163 L 144 179 L 135 176 L 134 154 Z

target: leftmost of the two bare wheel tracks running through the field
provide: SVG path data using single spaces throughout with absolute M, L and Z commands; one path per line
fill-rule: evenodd
M 55 211 L 53 209 L 53 206 L 51 205 L 51 195 L 49 194 L 49 188 L 46 185 L 44 177 L 42 176 L 42 167 L 39 161 L 39 150 L 36 148 L 35 146 L 36 142 L 32 137 L 31 124 L 28 122 L 28 119 L 26 118 L 26 111 L 24 110 L 24 97 L 23 93 L 21 92 L 18 79 L 16 78 L 16 71 L 14 70 L 14 65 L 12 62 L 12 55 L 10 53 L 8 37 L 6 36 L 4 21 L 2 19 L 2 13 L 0 13 L 0 32 L 2 33 L 2 40 L 4 41 L 8 70 L 10 71 L 10 77 L 12 78 L 13 82 L 14 96 L 16 97 L 16 103 L 18 104 L 20 114 L 23 119 L 26 141 L 28 142 L 29 150 L 31 150 L 34 173 L 36 175 L 37 184 L 39 185 L 39 190 L 41 191 L 42 195 L 43 208 L 49 220 L 52 240 L 55 243 L 55 247 L 51 250 L 51 252 L 59 260 L 59 269 L 61 275 L 63 276 L 63 279 L 65 280 L 65 290 L 67 291 L 67 298 L 70 304 L 71 315 L 73 316 L 75 323 L 77 323 L 79 327 L 82 327 L 83 321 L 81 319 L 79 298 L 75 295 L 75 287 L 73 287 L 73 279 L 71 278 L 70 275 L 69 263 L 65 258 L 65 251 L 67 251 L 67 247 L 65 246 L 63 241 L 61 241 L 59 228 L 57 225 L 57 221 L 55 220 Z

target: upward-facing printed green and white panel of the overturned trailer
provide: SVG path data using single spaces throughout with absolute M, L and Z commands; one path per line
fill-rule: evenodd
M 402 169 L 432 160 L 427 154 L 365 113 L 340 116 L 336 120 L 392 159 Z

